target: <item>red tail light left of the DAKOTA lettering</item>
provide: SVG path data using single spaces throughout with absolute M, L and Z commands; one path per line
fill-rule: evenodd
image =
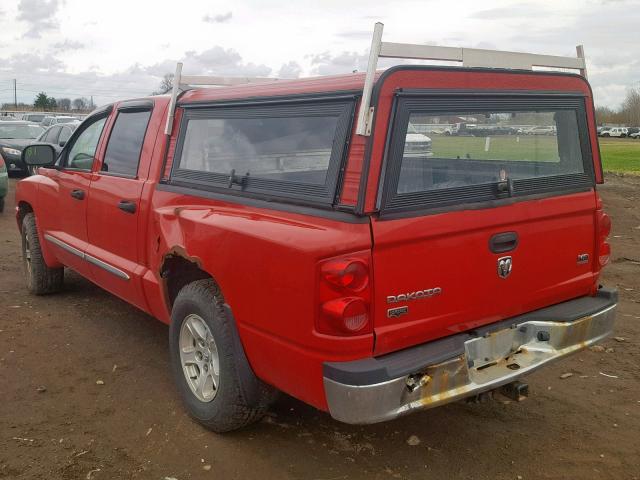
M 333 258 L 320 264 L 316 329 L 327 335 L 372 331 L 369 253 Z

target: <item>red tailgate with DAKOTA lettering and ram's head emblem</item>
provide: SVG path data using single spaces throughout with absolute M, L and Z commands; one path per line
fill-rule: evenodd
M 375 220 L 376 354 L 452 335 L 524 312 L 589 295 L 594 261 L 595 195 L 579 193 L 399 220 Z M 489 250 L 491 236 L 516 232 L 519 244 Z M 510 255 L 513 271 L 497 274 Z M 389 319 L 385 295 L 439 287 L 442 293 L 403 304 L 409 313 Z M 384 295 L 383 295 L 384 293 Z M 400 304 L 399 304 L 400 305 Z

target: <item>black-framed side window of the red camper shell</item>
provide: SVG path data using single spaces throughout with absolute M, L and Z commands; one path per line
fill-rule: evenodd
M 333 204 L 353 101 L 183 107 L 172 184 Z

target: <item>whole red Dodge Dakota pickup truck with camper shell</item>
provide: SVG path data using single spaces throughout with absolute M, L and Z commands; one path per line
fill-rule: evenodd
M 181 398 L 218 432 L 278 390 L 349 423 L 526 394 L 518 379 L 613 329 L 591 89 L 374 60 L 182 93 L 197 79 L 178 71 L 172 95 L 93 112 L 57 158 L 27 147 L 31 292 L 70 268 L 169 324 Z M 446 134 L 462 122 L 478 135 Z

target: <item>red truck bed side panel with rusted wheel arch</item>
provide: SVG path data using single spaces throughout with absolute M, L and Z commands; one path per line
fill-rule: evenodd
M 338 338 L 314 330 L 317 263 L 369 250 L 368 219 L 348 223 L 161 190 L 153 217 L 158 251 L 180 252 L 219 284 L 249 362 L 267 383 L 326 408 L 322 362 L 371 355 L 371 334 Z

